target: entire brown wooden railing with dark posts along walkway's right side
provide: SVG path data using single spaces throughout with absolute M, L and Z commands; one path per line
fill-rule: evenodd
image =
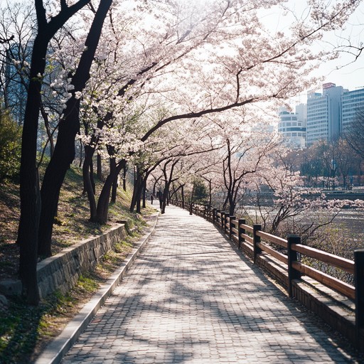
M 181 206 L 178 200 L 171 201 L 174 205 Z M 364 329 L 364 250 L 355 250 L 354 261 L 323 252 L 322 250 L 301 244 L 301 237 L 289 235 L 287 239 L 277 237 L 262 231 L 261 225 L 247 225 L 245 219 L 230 216 L 228 213 L 212 208 L 208 205 L 189 205 L 190 213 L 203 216 L 217 226 L 230 240 L 235 242 L 238 249 L 243 247 L 252 250 L 253 262 L 262 252 L 278 259 L 287 269 L 288 287 L 290 297 L 294 296 L 293 283 L 303 276 L 310 277 L 316 282 L 337 291 L 355 302 L 355 338 L 360 345 L 360 331 Z M 320 272 L 301 262 L 302 257 L 316 259 L 328 266 L 342 269 L 354 275 L 355 285 Z

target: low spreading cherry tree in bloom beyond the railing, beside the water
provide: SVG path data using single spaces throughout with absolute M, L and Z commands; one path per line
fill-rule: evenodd
M 304 242 L 316 236 L 316 232 L 329 225 L 343 208 L 363 208 L 362 200 L 329 200 L 325 193 L 304 187 L 304 178 L 299 171 L 291 171 L 279 156 L 252 176 L 250 188 L 255 194 L 259 213 L 256 223 L 262 229 L 285 237 L 287 233 L 301 235 Z M 269 203 L 259 200 L 261 187 L 268 186 L 272 193 Z M 245 214 L 250 215 L 245 209 Z M 252 218 L 255 220 L 255 218 Z

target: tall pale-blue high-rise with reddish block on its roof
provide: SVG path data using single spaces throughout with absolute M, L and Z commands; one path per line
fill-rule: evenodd
M 323 84 L 323 92 L 307 95 L 307 145 L 318 140 L 337 139 L 341 132 L 341 95 L 343 87 Z

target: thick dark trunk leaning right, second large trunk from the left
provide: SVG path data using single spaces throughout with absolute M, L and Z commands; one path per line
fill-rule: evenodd
M 41 197 L 43 200 L 41 222 L 39 229 L 39 249 L 42 255 L 51 255 L 51 237 L 53 220 L 58 205 L 60 188 L 70 164 L 75 158 L 75 136 L 80 130 L 80 100 L 75 98 L 75 92 L 82 91 L 90 78 L 90 68 L 95 51 L 100 40 L 102 26 L 112 0 L 103 0 L 96 11 L 90 31 L 85 42 L 85 50 L 80 58 L 72 84 L 73 97 L 68 100 L 64 112 L 65 117 L 60 120 L 57 143 L 53 158 L 43 178 Z

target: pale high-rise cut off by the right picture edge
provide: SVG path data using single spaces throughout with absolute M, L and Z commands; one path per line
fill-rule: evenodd
M 356 117 L 358 109 L 364 109 L 364 88 L 346 91 L 341 97 L 341 132 L 346 131 Z

